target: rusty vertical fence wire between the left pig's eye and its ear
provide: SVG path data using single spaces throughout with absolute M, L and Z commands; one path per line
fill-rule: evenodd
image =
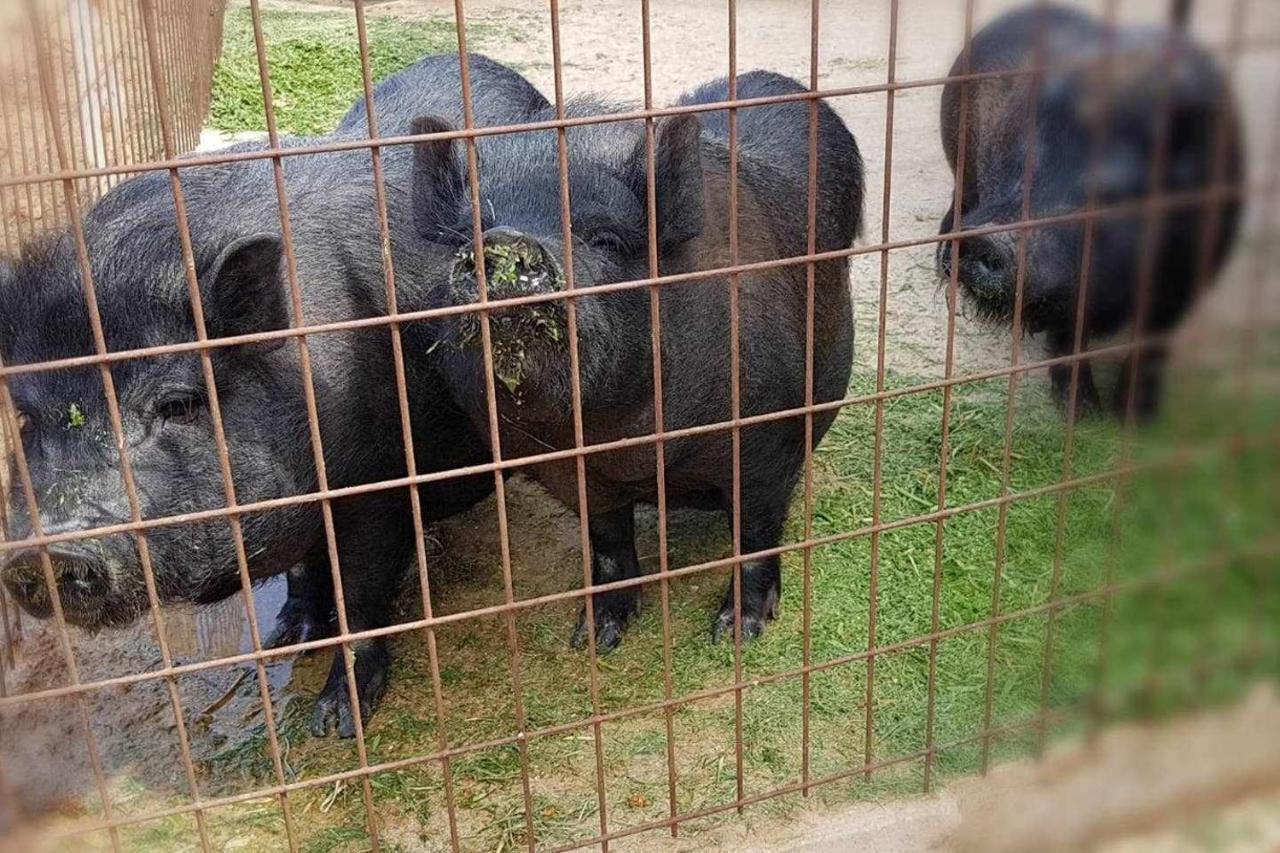
M 142 13 L 145 29 L 143 35 L 146 38 L 150 65 L 154 72 L 159 72 L 157 65 L 160 63 L 160 56 L 156 44 L 156 10 L 155 6 L 151 5 L 151 0 L 143 0 Z M 174 127 L 173 117 L 169 111 L 168 92 L 165 90 L 163 74 L 155 73 L 152 76 L 152 82 L 156 87 L 156 102 L 160 106 L 157 118 L 160 122 L 160 132 L 164 138 L 164 156 L 166 159 L 172 159 L 177 154 L 174 151 Z M 178 228 L 178 238 L 182 246 L 183 269 L 187 279 L 187 296 L 191 301 L 196 339 L 205 342 L 209 339 L 209 330 L 205 323 L 205 310 L 200 296 L 200 278 L 196 273 L 195 251 L 191 243 L 191 224 L 187 216 L 187 201 L 182 190 L 182 181 L 179 178 L 178 169 L 169 170 L 169 187 L 170 192 L 173 192 L 174 215 L 177 219 L 175 225 Z M 257 608 L 253 605 L 253 588 L 248 571 L 248 555 L 244 548 L 244 534 L 241 526 L 241 517 L 234 512 L 238 505 L 236 483 L 232 475 L 230 452 L 227 446 L 227 433 L 223 424 L 221 405 L 218 394 L 218 384 L 214 377 L 214 362 L 209 350 L 200 351 L 200 361 L 205 388 L 209 396 L 209 411 L 214 424 L 214 443 L 218 448 L 219 474 L 223 480 L 223 500 L 227 502 L 227 507 L 233 511 L 233 514 L 228 516 L 228 526 L 230 528 L 232 540 L 236 549 L 236 565 L 239 571 L 241 594 L 244 603 L 244 613 L 248 620 L 250 639 L 252 642 L 253 651 L 261 652 L 262 637 L 257 622 Z M 257 675 L 259 697 L 262 702 L 262 716 L 266 724 L 268 745 L 271 752 L 271 765 L 275 772 L 276 783 L 283 786 L 284 763 L 280 758 L 280 744 L 275 726 L 275 712 L 271 702 L 270 681 L 266 676 L 266 665 L 261 658 L 255 661 L 255 670 Z M 192 774 L 195 768 L 192 768 Z M 288 795 L 282 793 L 278 800 L 284 817 L 287 843 L 291 850 L 296 850 L 297 839 L 294 836 L 293 815 Z

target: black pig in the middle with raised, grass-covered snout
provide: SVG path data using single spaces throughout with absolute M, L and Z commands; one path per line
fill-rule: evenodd
M 795 81 L 753 72 L 739 78 L 740 97 L 803 92 Z M 680 104 L 727 100 L 727 81 L 713 82 Z M 609 111 L 579 101 L 571 115 Z M 544 114 L 550 118 L 548 110 Z M 861 216 L 861 160 L 852 136 L 826 104 L 818 106 L 818 251 L 849 247 Z M 424 119 L 420 132 L 447 123 Z M 568 131 L 575 284 L 588 288 L 645 278 L 648 266 L 648 172 L 644 126 L 609 123 Z M 655 206 L 659 273 L 727 266 L 728 117 L 713 113 L 663 118 L 655 126 Z M 795 101 L 739 114 L 739 233 L 741 263 L 804 255 L 808 219 L 809 105 Z M 564 245 L 557 137 L 552 132 L 493 140 L 480 165 L 486 282 L 492 297 L 556 291 L 563 284 Z M 476 300 L 476 266 L 465 168 L 456 145 L 419 147 L 416 188 L 420 225 L 433 243 L 456 248 L 438 300 Z M 453 197 L 453 209 L 438 204 Z M 436 201 L 436 204 L 431 204 Z M 662 365 L 668 430 L 728 420 L 730 289 L 726 277 L 664 288 Z M 741 412 L 805 402 L 805 268 L 791 265 L 740 277 Z M 577 302 L 585 437 L 607 442 L 654 430 L 649 293 L 645 289 L 588 296 Z M 845 260 L 815 270 L 814 397 L 840 398 L 849 382 L 852 321 Z M 484 364 L 475 315 L 451 324 L 435 351 L 456 398 L 486 423 Z M 563 302 L 544 302 L 493 316 L 494 370 L 508 459 L 573 446 L 571 380 Z M 814 416 L 814 441 L 835 412 Z M 744 552 L 778 544 L 805 455 L 804 419 L 742 429 L 741 543 Z M 657 501 L 655 452 L 649 444 L 586 457 L 593 579 L 635 578 L 634 507 Z M 544 464 L 535 476 L 557 498 L 577 505 L 572 461 Z M 669 506 L 732 512 L 728 430 L 666 443 Z M 742 633 L 755 637 L 777 610 L 778 557 L 751 560 L 742 571 Z M 635 612 L 635 588 L 595 597 L 599 648 L 621 639 Z M 713 639 L 733 630 L 732 585 L 713 625 Z M 586 640 L 579 619 L 573 644 Z

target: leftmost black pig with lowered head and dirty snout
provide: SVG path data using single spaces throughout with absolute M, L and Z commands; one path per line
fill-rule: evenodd
M 515 72 L 484 56 L 470 60 L 483 124 L 520 119 L 545 105 Z M 406 133 L 424 109 L 461 120 L 457 55 L 428 58 L 379 86 L 375 104 L 384 134 Z M 329 140 L 367 133 L 362 105 Z M 287 146 L 307 142 L 289 140 Z M 255 150 L 253 145 L 238 150 Z M 392 252 L 403 310 L 430 266 L 413 234 L 408 204 L 412 149 L 385 149 Z M 227 337 L 384 314 L 381 240 L 367 151 L 283 159 L 302 314 L 293 316 L 270 160 L 193 167 L 180 179 L 209 334 Z M 109 192 L 84 216 L 106 345 L 128 350 L 195 337 L 169 178 L 148 173 Z M 28 246 L 15 264 L 0 264 L 0 356 L 29 364 L 93 351 L 70 233 Z M 420 306 L 419 306 L 420 307 Z M 443 470 L 485 461 L 470 421 L 426 366 L 429 348 L 415 327 L 406 334 L 417 467 Z M 308 338 L 330 487 L 404 476 L 390 338 L 385 328 Z M 212 351 L 230 469 L 241 503 L 316 491 L 300 348 L 287 339 Z M 124 439 L 143 517 L 224 506 L 200 359 L 169 355 L 111 365 Z M 45 534 L 129 519 L 119 457 L 96 369 L 22 374 L 10 380 L 22 444 Z M 489 493 L 492 476 L 424 487 L 426 520 L 458 512 Z M 18 478 L 9 496 L 13 535 L 32 534 Z M 346 607 L 352 630 L 384 626 L 392 596 L 413 552 L 404 489 L 333 502 Z M 334 599 L 320 505 L 311 502 L 243 519 L 255 580 L 289 571 L 289 598 L 270 644 L 333 633 Z M 223 520 L 166 526 L 146 535 L 164 602 L 212 602 L 239 589 L 233 539 Z M 59 543 L 49 548 L 69 621 L 90 629 L 123 625 L 147 608 L 138 546 L 129 535 Z M 3 578 L 37 616 L 51 603 L 36 549 L 5 555 Z M 385 639 L 355 644 L 362 713 L 372 710 L 388 672 Z M 312 730 L 339 735 L 355 724 L 344 665 L 337 656 L 316 704 Z

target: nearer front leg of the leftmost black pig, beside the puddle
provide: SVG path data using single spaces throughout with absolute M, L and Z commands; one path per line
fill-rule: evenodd
M 407 501 L 398 496 L 385 496 L 383 500 L 364 498 L 357 505 L 334 505 L 343 602 L 347 626 L 352 633 L 390 624 L 401 575 L 413 547 L 412 528 L 403 511 Z M 320 551 L 321 565 L 329 576 L 328 551 L 324 546 Z M 385 637 L 355 640 L 351 651 L 356 657 L 360 715 L 367 724 L 387 689 L 390 652 Z M 316 699 L 311 717 L 312 735 L 323 738 L 334 729 L 339 738 L 356 735 L 351 693 L 347 690 L 347 661 L 340 647 L 335 647 L 329 680 Z

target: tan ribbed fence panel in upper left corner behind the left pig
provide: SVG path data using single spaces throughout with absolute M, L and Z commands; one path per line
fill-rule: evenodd
M 131 164 L 164 156 L 161 105 L 180 150 L 193 150 L 209 113 L 221 50 L 223 0 L 161 4 L 150 12 L 156 63 L 138 37 L 147 9 L 134 0 L 15 3 L 0 14 L 0 224 L 9 256 L 69 222 L 69 210 L 119 183 Z M 65 169 L 102 170 L 69 186 L 41 179 Z M 70 205 L 70 207 L 68 206 Z M 0 393 L 0 400 L 4 394 Z M 9 423 L 0 425 L 0 487 L 10 483 Z M 3 516 L 4 508 L 0 508 Z M 0 523 L 4 519 L 0 517 Z M 0 593 L 3 596 L 3 593 Z M 8 602 L 5 662 L 22 633 Z M 4 686 L 0 685 L 0 690 Z

